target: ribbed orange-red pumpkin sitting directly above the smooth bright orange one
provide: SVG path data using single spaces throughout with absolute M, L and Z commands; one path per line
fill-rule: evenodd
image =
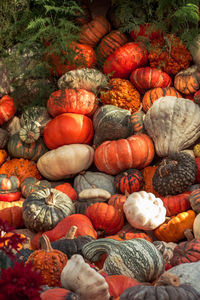
M 93 115 L 97 107 L 96 96 L 85 89 L 57 90 L 47 101 L 47 110 L 53 117 L 63 113 Z

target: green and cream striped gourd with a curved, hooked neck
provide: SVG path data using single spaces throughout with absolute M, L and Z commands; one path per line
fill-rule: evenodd
M 84 245 L 82 253 L 91 262 L 98 261 L 106 253 L 103 270 L 108 275 L 126 275 L 140 282 L 151 282 L 164 272 L 161 253 L 144 239 L 124 242 L 98 239 Z

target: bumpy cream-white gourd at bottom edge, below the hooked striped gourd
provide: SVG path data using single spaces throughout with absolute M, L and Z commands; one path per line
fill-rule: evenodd
M 79 254 L 73 255 L 61 272 L 61 285 L 83 300 L 109 300 L 105 278 L 87 264 Z

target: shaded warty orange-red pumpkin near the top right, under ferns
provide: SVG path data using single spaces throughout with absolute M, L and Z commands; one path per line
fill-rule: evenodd
M 151 42 L 148 59 L 152 68 L 176 75 L 190 66 L 192 55 L 178 37 L 167 34 Z

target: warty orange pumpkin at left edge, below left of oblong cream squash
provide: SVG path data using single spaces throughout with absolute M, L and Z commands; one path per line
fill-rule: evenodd
M 7 176 L 16 176 L 20 183 L 26 177 L 35 177 L 42 179 L 40 172 L 37 169 L 37 164 L 34 161 L 24 158 L 13 158 L 4 162 L 0 167 L 0 174 Z

